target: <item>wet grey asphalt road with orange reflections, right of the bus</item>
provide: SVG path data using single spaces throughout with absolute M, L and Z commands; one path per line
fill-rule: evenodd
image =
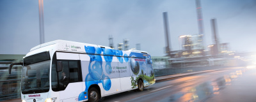
M 256 69 L 225 69 L 158 82 L 102 101 L 256 101 Z

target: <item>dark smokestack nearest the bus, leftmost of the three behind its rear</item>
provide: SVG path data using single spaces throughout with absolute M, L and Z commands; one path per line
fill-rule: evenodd
M 167 12 L 163 13 L 163 19 L 164 19 L 164 33 L 165 33 L 166 45 L 167 45 L 165 48 L 165 53 L 167 54 L 166 56 L 171 57 L 171 50 L 170 50 L 170 44 L 169 44 L 168 13 Z

